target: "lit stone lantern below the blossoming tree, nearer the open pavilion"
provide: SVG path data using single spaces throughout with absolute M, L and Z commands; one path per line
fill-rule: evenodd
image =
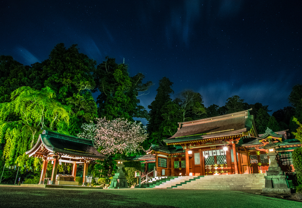
M 117 160 L 114 160 L 117 162 L 117 172 L 114 174 L 113 179 L 111 179 L 111 184 L 108 189 L 120 189 L 120 188 L 128 188 L 127 179 L 125 177 L 125 174 L 123 173 L 123 167 L 124 167 L 124 160 L 122 157 L 120 157 Z

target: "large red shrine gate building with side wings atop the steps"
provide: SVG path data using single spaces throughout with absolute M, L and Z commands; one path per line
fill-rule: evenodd
M 265 173 L 270 164 L 269 142 L 277 145 L 278 165 L 294 172 L 292 151 L 302 146 L 288 130 L 259 135 L 249 110 L 178 123 L 178 131 L 164 140 L 168 146 L 151 145 L 140 161 L 155 176 L 198 176 Z M 154 168 L 155 167 L 155 168 Z

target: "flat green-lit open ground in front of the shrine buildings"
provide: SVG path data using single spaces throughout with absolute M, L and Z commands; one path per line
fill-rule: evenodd
M 301 208 L 302 203 L 231 190 L 85 190 L 0 186 L 0 207 Z

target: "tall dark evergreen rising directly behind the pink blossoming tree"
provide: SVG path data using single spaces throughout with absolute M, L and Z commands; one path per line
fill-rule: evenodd
M 126 64 L 117 64 L 114 58 L 106 57 L 93 76 L 96 83 L 93 92 L 101 93 L 97 98 L 100 118 L 129 121 L 133 121 L 133 117 L 148 118 L 145 108 L 138 105 L 137 97 L 139 92 L 147 91 L 152 82 L 142 83 L 145 77 L 142 73 L 130 77 Z

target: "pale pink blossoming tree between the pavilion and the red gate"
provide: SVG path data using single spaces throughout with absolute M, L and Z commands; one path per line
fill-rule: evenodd
M 102 154 L 130 154 L 143 150 L 140 145 L 148 136 L 142 123 L 121 118 L 97 119 L 97 124 L 83 124 L 79 137 L 92 139 Z

